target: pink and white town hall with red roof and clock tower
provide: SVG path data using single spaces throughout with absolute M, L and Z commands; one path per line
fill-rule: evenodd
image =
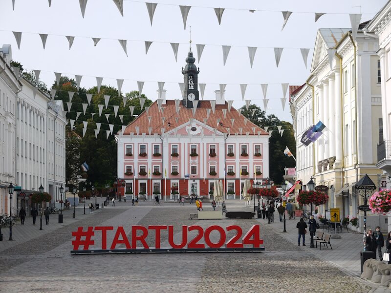
M 199 101 L 195 58 L 186 58 L 181 100 L 161 99 L 116 134 L 117 177 L 129 196 L 210 197 L 222 180 L 225 198 L 239 199 L 245 179 L 269 176 L 269 133 L 251 123 L 216 91 Z M 121 192 L 123 193 L 123 192 Z

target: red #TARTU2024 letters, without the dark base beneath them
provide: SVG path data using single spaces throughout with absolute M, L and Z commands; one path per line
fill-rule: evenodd
M 131 226 L 131 238 L 128 238 L 124 227 L 119 226 L 115 228 L 115 235 L 111 243 L 107 240 L 107 232 L 114 231 L 112 226 L 98 226 L 98 227 L 79 227 L 76 231 L 72 232 L 74 240 L 72 241 L 74 251 L 89 250 L 90 246 L 95 244 L 93 237 L 100 237 L 102 240 L 102 250 L 115 250 L 117 245 L 124 244 L 126 249 L 150 249 L 146 242 L 149 231 L 154 231 L 155 246 L 154 249 L 160 249 L 160 236 L 163 231 L 168 230 L 168 243 L 173 249 L 205 249 L 205 248 L 230 248 L 239 249 L 246 247 L 260 248 L 263 244 L 263 240 L 260 239 L 260 225 L 253 225 L 242 237 L 243 231 L 240 226 L 230 225 L 225 229 L 212 225 L 204 229 L 197 225 L 182 226 L 182 239 L 180 242 L 174 242 L 174 226 Z M 189 239 L 188 232 L 197 231 L 197 234 L 192 239 Z M 217 242 L 211 240 L 211 233 L 217 231 L 220 234 L 220 238 Z M 227 239 L 226 232 L 235 231 L 235 235 Z M 95 238 L 98 240 L 99 238 Z M 204 240 L 203 242 L 201 240 Z M 140 246 L 141 245 L 141 246 Z

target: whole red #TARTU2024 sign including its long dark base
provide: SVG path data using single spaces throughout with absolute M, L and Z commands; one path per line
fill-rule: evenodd
M 108 243 L 108 231 L 114 231 L 115 235 L 111 243 Z M 150 231 L 154 232 L 154 247 L 147 244 L 146 238 Z M 163 231 L 168 232 L 169 248 L 161 248 L 161 235 Z M 189 239 L 188 232 L 196 231 L 197 234 Z M 227 232 L 233 231 L 235 235 L 227 239 Z M 219 234 L 218 241 L 212 241 L 211 233 Z M 131 226 L 131 237 L 128 237 L 124 227 L 119 226 L 97 226 L 78 227 L 72 232 L 73 250 L 71 254 L 83 253 L 130 253 L 130 252 L 186 252 L 186 251 L 263 251 L 261 247 L 263 240 L 260 238 L 260 225 L 253 225 L 244 235 L 243 230 L 238 225 L 223 227 L 212 225 L 203 228 L 197 225 L 181 227 L 181 241 L 174 242 L 174 226 L 151 225 L 148 227 L 134 225 Z M 95 240 L 101 240 L 100 248 L 92 248 Z M 201 241 L 203 240 L 203 241 Z M 117 248 L 122 245 L 124 248 Z M 141 246 L 140 246 L 141 245 Z

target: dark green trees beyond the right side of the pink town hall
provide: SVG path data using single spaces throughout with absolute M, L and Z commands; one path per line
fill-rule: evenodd
M 254 116 L 252 109 L 256 109 Z M 292 154 L 296 157 L 296 142 L 293 133 L 293 126 L 289 122 L 280 121 L 275 115 L 270 114 L 266 117 L 265 111 L 257 105 L 249 105 L 241 108 L 244 117 L 248 118 L 257 126 L 268 126 L 268 130 L 273 130 L 269 138 L 269 176 L 276 184 L 281 184 L 284 175 L 284 167 L 295 167 L 296 162 L 292 157 L 286 157 L 283 153 L 287 146 Z M 277 126 L 282 126 L 284 132 L 280 135 Z

